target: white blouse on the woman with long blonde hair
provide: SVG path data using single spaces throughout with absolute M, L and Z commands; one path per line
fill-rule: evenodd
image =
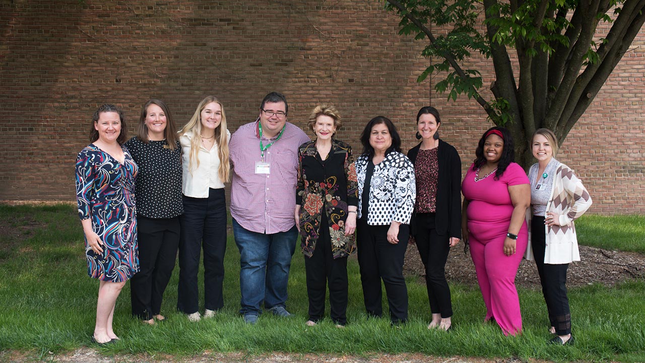
M 231 138 L 231 133 L 226 130 L 228 140 Z M 199 160 L 199 167 L 193 165 L 193 170 L 190 167 L 190 147 L 191 140 L 194 137 L 192 132 L 186 132 L 179 138 L 181 143 L 181 165 L 183 169 L 183 183 L 182 192 L 185 196 L 192 198 L 208 198 L 208 189 L 221 189 L 224 187 L 224 182 L 219 178 L 219 145 L 217 140 L 213 143 L 210 150 L 199 143 L 199 152 L 197 152 L 197 159 Z M 196 163 L 194 163 L 196 164 Z

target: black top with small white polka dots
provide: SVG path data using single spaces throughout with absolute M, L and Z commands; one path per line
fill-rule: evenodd
M 183 214 L 179 141 L 171 150 L 166 140 L 144 143 L 135 136 L 125 146 L 139 166 L 135 185 L 137 215 L 174 218 Z

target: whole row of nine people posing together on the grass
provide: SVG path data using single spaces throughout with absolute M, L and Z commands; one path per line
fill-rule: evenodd
M 479 140 L 462 181 L 459 153 L 439 138 L 441 118 L 433 107 L 419 110 L 421 142 L 407 156 L 386 117 L 367 123 L 362 152 L 354 158 L 352 147 L 335 137 L 342 118 L 333 105 L 312 110 L 313 141 L 287 116 L 286 98 L 272 92 L 258 118 L 230 134 L 222 103 L 208 96 L 177 132 L 168 107 L 151 99 L 141 110 L 137 136 L 126 140 L 123 112 L 99 107 L 91 144 L 76 163 L 88 273 L 101 281 L 94 342 L 119 339 L 112 316 L 130 279 L 132 315 L 147 324 L 166 319 L 161 301 L 177 251 L 177 309 L 198 321 L 223 307 L 229 180 L 240 252 L 239 312 L 248 324 L 263 311 L 292 315 L 287 282 L 300 235 L 306 325 L 323 319 L 329 289 L 330 317 L 345 326 L 347 257 L 355 251 L 368 316 L 382 315 L 382 281 L 392 325 L 406 322 L 402 268 L 407 245 L 414 242 L 426 271 L 428 328 L 448 330 L 453 311 L 445 265 L 450 247 L 464 240 L 486 305 L 484 321 L 496 322 L 504 335 L 522 330 L 515 275 L 526 251 L 538 267 L 551 341 L 573 342 L 566 271 L 580 259 L 573 220 L 591 198 L 573 171 L 555 159 L 553 132 L 535 131 L 531 149 L 538 163 L 527 176 L 513 162 L 510 132 L 492 127 Z M 197 284 L 202 251 L 203 315 Z

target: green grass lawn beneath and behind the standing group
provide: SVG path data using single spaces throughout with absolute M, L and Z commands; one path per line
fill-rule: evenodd
M 604 248 L 645 251 L 643 217 L 583 218 L 578 226 L 581 240 L 584 236 L 585 242 L 593 239 L 590 244 Z M 620 229 L 603 228 L 607 221 L 620 225 Z M 86 275 L 81 223 L 75 208 L 0 205 L 0 225 L 5 226 L 0 227 L 0 350 L 19 349 L 39 355 L 88 345 L 94 329 L 98 283 Z M 608 240 L 613 247 L 602 245 Z M 445 333 L 426 329 L 430 311 L 425 287 L 417 278 L 410 278 L 410 322 L 402 329 L 393 329 L 388 318 L 367 320 L 356 260 L 350 260 L 348 274 L 346 329 L 337 329 L 328 320 L 316 327 L 304 325 L 308 302 L 303 256 L 298 251 L 293 257 L 287 302 L 295 316 L 281 319 L 264 314 L 256 326 L 246 326 L 237 315 L 239 253 L 229 236 L 221 313 L 196 324 L 176 313 L 175 269 L 162 309 L 168 322 L 145 326 L 130 318 L 128 284 L 117 301 L 114 321 L 115 331 L 123 340 L 100 349 L 108 354 L 159 352 L 183 356 L 208 349 L 252 354 L 420 352 L 446 357 L 645 360 L 643 280 L 611 288 L 589 285 L 570 289 L 576 343 L 558 347 L 546 344 L 549 323 L 540 291 L 520 289 L 524 333 L 504 337 L 498 327 L 482 324 L 485 308 L 476 285 L 452 284 L 455 315 L 452 331 Z

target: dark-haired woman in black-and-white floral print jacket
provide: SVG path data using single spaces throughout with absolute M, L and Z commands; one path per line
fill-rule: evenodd
M 403 260 L 416 196 L 414 166 L 401 154 L 401 137 L 388 118 L 370 120 L 361 143 L 357 245 L 365 309 L 370 316 L 382 315 L 382 278 L 390 320 L 398 325 L 408 320 Z

